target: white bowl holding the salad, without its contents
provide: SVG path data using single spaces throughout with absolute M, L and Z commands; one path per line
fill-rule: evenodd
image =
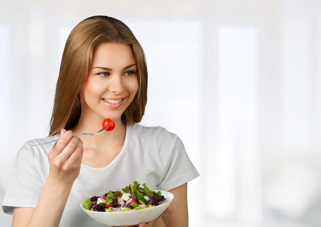
M 160 190 L 155 190 L 160 191 Z M 171 204 L 174 195 L 170 192 L 160 191 L 165 198 L 168 198 L 168 201 L 156 205 L 152 208 L 146 208 L 142 210 L 134 211 L 116 211 L 116 212 L 98 212 L 98 211 L 89 211 L 85 209 L 84 202 L 81 203 L 81 208 L 93 219 L 96 221 L 105 224 L 105 225 L 134 225 L 141 222 L 148 222 L 156 219 L 160 216 L 166 208 Z

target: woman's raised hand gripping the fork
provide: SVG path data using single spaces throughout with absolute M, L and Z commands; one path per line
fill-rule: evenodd
M 73 184 L 78 177 L 83 158 L 83 141 L 72 136 L 72 131 L 61 130 L 61 135 L 48 154 L 49 176 L 57 183 Z

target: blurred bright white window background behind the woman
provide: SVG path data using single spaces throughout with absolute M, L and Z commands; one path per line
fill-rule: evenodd
M 69 32 L 99 14 L 145 49 L 142 125 L 176 133 L 200 173 L 190 226 L 321 226 L 319 0 L 0 0 L 1 203 L 19 148 L 48 135 Z

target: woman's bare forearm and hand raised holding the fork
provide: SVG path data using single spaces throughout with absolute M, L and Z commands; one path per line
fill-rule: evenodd
M 83 157 L 83 142 L 71 131 L 61 136 L 48 154 L 49 175 L 36 207 L 14 208 L 12 226 L 58 226 Z

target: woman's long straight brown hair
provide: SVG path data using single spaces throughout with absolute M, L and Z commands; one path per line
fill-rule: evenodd
M 122 118 L 131 124 L 142 120 L 147 102 L 147 66 L 143 48 L 120 20 L 92 16 L 76 25 L 68 36 L 56 85 L 49 135 L 77 124 L 81 115 L 78 92 L 88 76 L 94 49 L 105 42 L 128 44 L 133 50 L 139 88 Z

